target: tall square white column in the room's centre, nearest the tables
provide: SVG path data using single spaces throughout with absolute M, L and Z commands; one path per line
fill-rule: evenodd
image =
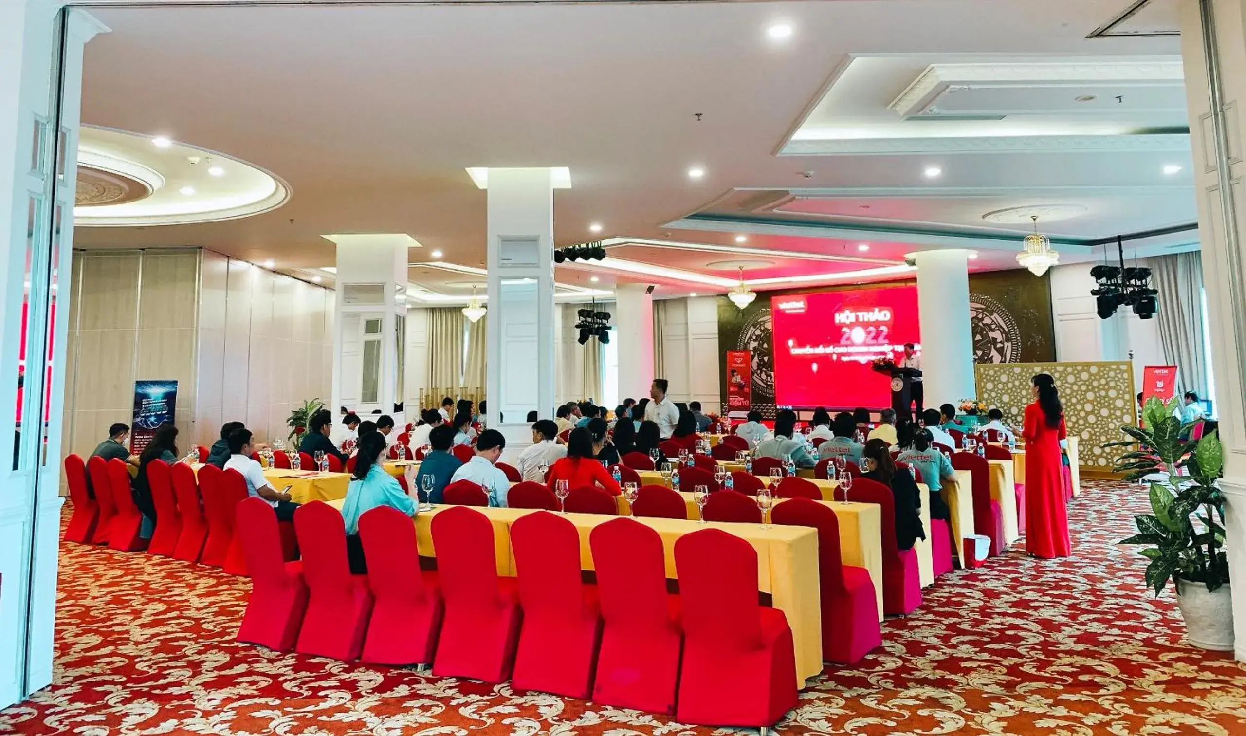
M 487 245 L 488 426 L 511 458 L 532 443 L 527 413 L 552 416 L 554 405 L 551 169 L 488 169 Z

